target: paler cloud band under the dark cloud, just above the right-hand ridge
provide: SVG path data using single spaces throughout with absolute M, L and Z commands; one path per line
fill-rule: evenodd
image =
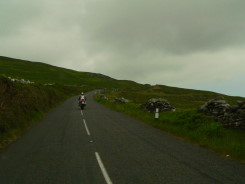
M 244 75 L 244 60 L 244 48 L 184 57 L 156 52 L 142 53 L 138 58 L 109 54 L 100 57 L 100 64 L 97 62 L 95 70 L 119 79 L 198 89 L 201 84 L 218 84 L 220 81 L 229 81 L 229 78 L 236 75 Z

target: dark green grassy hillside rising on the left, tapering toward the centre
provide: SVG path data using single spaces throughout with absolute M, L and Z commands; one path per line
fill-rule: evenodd
M 52 65 L 0 56 L 0 74 L 38 83 L 89 85 L 96 87 L 137 86 L 133 81 L 115 80 L 102 74 L 78 72 Z

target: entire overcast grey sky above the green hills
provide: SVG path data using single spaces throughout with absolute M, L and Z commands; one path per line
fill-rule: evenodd
M 0 55 L 245 96 L 245 0 L 0 0 Z

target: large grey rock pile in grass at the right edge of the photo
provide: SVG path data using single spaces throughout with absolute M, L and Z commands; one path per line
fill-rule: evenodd
M 225 100 L 210 100 L 199 109 L 199 112 L 215 117 L 227 128 L 245 130 L 245 102 L 229 105 Z

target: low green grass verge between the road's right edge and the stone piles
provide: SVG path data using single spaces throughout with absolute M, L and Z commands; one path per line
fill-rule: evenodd
M 224 156 L 231 156 L 245 162 L 245 133 L 223 128 L 212 117 L 198 113 L 195 109 L 163 112 L 159 120 L 154 114 L 143 111 L 139 104 L 114 104 L 110 100 L 95 97 L 96 100 L 116 111 L 126 113 L 156 128 L 177 135 L 186 141 L 214 150 Z

